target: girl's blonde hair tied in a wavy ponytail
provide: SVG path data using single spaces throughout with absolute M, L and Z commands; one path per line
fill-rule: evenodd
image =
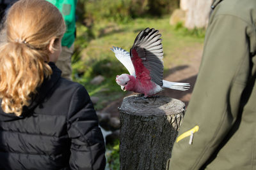
M 52 38 L 61 39 L 65 22 L 47 1 L 20 0 L 8 11 L 5 26 L 7 41 L 0 47 L 1 107 L 20 116 L 36 88 L 52 74 L 48 47 Z

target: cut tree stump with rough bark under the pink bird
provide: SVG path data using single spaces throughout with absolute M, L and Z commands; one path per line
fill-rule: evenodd
M 120 169 L 166 169 L 185 104 L 171 97 L 125 97 L 120 111 Z

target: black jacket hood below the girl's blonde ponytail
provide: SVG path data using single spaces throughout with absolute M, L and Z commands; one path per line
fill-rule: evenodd
M 58 67 L 56 67 L 53 62 L 49 62 L 48 64 L 52 69 L 51 78 L 45 78 L 44 82 L 37 90 L 38 95 L 34 97 L 32 103 L 29 106 L 24 106 L 22 115 L 19 117 L 17 117 L 14 113 L 5 113 L 0 107 L 0 122 L 7 122 L 28 117 L 33 113 L 33 110 L 36 108 L 36 106 L 44 101 L 45 97 L 47 96 L 47 92 L 49 92 L 61 78 L 61 70 L 58 69 Z M 0 104 L 1 101 L 2 100 L 0 100 Z

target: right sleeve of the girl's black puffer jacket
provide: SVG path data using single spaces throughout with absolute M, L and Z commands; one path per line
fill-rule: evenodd
M 67 119 L 71 139 L 70 168 L 103 170 L 106 166 L 104 138 L 92 101 L 81 85 L 72 96 Z

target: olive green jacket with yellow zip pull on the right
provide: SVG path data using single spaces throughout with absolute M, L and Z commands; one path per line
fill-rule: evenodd
M 217 0 L 212 7 L 195 89 L 166 169 L 256 169 L 256 1 Z

